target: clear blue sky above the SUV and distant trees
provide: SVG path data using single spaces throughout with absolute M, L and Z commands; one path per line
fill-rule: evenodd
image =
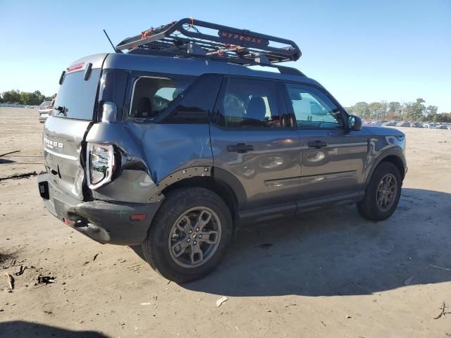
M 194 18 L 293 39 L 291 65 L 344 106 L 414 101 L 451 111 L 451 1 L 0 0 L 0 92 L 57 91 L 82 56 L 151 26 Z

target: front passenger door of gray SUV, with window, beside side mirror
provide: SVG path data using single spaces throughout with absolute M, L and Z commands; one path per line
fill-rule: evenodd
M 364 182 L 366 135 L 346 130 L 345 113 L 322 89 L 296 83 L 285 83 L 285 89 L 301 139 L 301 201 L 358 192 Z

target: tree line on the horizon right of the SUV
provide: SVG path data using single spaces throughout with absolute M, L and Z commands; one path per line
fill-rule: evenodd
M 358 102 L 346 110 L 352 115 L 362 117 L 364 120 L 396 120 L 396 121 L 432 121 L 450 122 L 450 113 L 437 113 L 437 106 L 426 106 L 424 99 L 416 99 L 414 102 L 400 104 L 400 102 Z

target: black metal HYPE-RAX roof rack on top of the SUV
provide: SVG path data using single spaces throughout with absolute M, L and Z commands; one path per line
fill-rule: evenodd
M 128 37 L 116 46 L 116 50 L 128 50 L 130 54 L 204 57 L 240 65 L 274 66 L 280 73 L 302 75 L 295 68 L 273 65 L 300 58 L 302 54 L 295 42 L 192 18 L 152 27 L 140 35 Z

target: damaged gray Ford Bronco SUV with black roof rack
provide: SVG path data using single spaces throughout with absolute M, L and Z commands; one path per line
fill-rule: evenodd
M 395 211 L 404 134 L 362 127 L 280 66 L 301 55 L 294 42 L 183 19 L 113 48 L 62 73 L 44 125 L 39 192 L 75 230 L 142 244 L 152 268 L 187 282 L 240 225 L 336 204 L 369 220 Z

